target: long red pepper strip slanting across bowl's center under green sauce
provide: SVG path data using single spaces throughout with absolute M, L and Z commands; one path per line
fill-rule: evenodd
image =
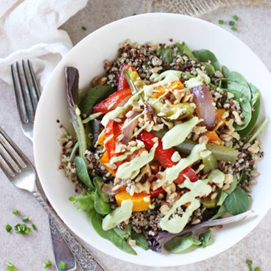
M 139 135 L 137 135 L 137 138 L 144 142 L 147 150 L 150 150 L 155 144 L 155 142 L 152 140 L 155 137 L 158 138 L 158 147 L 156 148 L 155 154 L 154 154 L 155 158 L 159 161 L 159 163 L 165 169 L 175 166 L 177 163 L 171 160 L 171 157 L 173 153 L 175 152 L 174 148 L 169 148 L 169 149 L 164 150 L 162 139 L 151 132 L 147 132 L 143 130 L 140 132 Z M 183 183 L 185 180 L 185 176 L 183 176 L 183 174 L 187 175 L 190 178 L 190 181 L 192 182 L 195 182 L 198 180 L 196 172 L 193 169 L 187 167 L 180 172 L 178 178 L 174 180 L 174 183 L 177 183 L 177 184 Z

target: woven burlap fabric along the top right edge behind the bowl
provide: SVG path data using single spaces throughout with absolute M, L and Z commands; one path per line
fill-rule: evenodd
M 144 12 L 169 12 L 200 16 L 219 7 L 267 3 L 269 0 L 144 0 Z

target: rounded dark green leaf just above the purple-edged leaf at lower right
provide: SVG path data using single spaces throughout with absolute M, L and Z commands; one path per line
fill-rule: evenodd
M 248 209 L 248 195 L 241 187 L 237 186 L 235 191 L 227 197 L 224 205 L 232 215 L 243 213 Z

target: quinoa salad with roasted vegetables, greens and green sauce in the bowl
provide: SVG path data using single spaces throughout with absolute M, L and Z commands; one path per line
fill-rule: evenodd
M 204 248 L 214 226 L 251 212 L 268 121 L 255 127 L 259 90 L 184 42 L 127 40 L 104 68 L 79 91 L 78 70 L 66 67 L 75 136 L 62 126 L 60 169 L 75 184 L 69 201 L 125 252 Z

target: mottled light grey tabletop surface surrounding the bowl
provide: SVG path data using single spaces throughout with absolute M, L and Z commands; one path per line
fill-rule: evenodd
M 91 0 L 61 28 L 68 32 L 75 45 L 99 27 L 134 13 L 142 13 L 142 10 L 143 0 Z M 271 70 L 271 3 L 220 8 L 201 18 L 218 24 L 219 19 L 230 20 L 235 14 L 240 19 L 238 31 L 234 34 L 252 48 Z M 82 26 L 87 30 L 82 31 Z M 228 25 L 222 27 L 231 31 Z M 0 81 L 0 94 L 0 126 L 33 161 L 32 142 L 21 132 L 13 88 Z M 45 211 L 30 194 L 16 189 L 2 171 L 0 171 L 0 203 L 0 271 L 5 270 L 7 261 L 12 262 L 18 271 L 43 270 L 42 263 L 47 259 L 52 261 L 54 259 Z M 8 223 L 15 225 L 19 222 L 19 217 L 11 214 L 13 208 L 19 209 L 23 216 L 29 216 L 36 225 L 37 232 L 32 232 L 29 236 L 16 235 L 14 232 L 7 234 L 5 225 Z M 246 271 L 247 259 L 253 260 L 254 268 L 260 266 L 262 271 L 269 271 L 271 270 L 270 225 L 271 211 L 256 229 L 227 251 L 200 263 L 175 268 L 150 268 L 129 264 L 107 256 L 83 241 L 82 243 L 100 259 L 108 271 Z

